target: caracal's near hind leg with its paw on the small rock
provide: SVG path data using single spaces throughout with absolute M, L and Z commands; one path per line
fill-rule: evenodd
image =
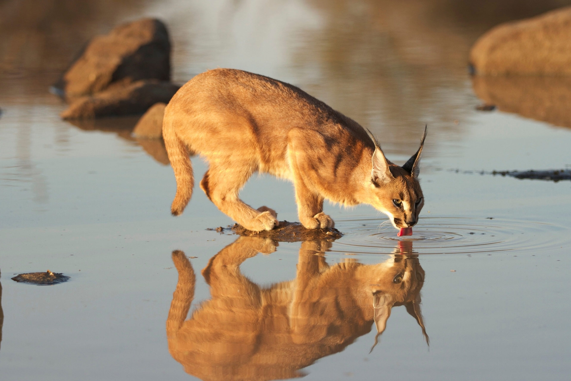
M 228 162 L 232 161 L 229 159 Z M 250 166 L 226 167 L 216 163 L 210 166 L 200 187 L 220 211 L 248 230 L 272 230 L 278 225 L 274 210 L 265 206 L 255 210 L 238 197 L 240 189 L 252 173 Z

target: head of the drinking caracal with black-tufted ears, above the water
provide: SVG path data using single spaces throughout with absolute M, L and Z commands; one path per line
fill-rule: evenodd
M 419 220 L 420 210 L 424 206 L 419 171 L 420 154 L 423 151 L 426 135 L 425 127 L 419 150 L 402 167 L 394 165 L 385 158 L 379 143 L 371 135 L 371 139 L 375 142 L 371 180 L 368 184 L 372 192 L 371 204 L 388 215 L 397 229 L 415 226 Z

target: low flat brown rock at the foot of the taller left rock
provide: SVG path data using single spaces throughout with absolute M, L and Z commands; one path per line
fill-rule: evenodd
M 155 79 L 137 81 L 128 86 L 116 84 L 94 95 L 80 97 L 60 116 L 63 119 L 86 119 L 142 114 L 157 102 L 168 103 L 179 89 L 170 82 Z

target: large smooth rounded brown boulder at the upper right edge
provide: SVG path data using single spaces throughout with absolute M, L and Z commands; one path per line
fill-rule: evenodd
M 571 7 L 494 27 L 469 60 L 481 75 L 571 75 Z

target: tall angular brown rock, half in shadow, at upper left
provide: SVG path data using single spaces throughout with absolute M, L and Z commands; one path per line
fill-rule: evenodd
M 170 51 L 167 28 L 159 20 L 125 23 L 94 37 L 54 87 L 66 97 L 77 97 L 116 81 L 170 81 Z

